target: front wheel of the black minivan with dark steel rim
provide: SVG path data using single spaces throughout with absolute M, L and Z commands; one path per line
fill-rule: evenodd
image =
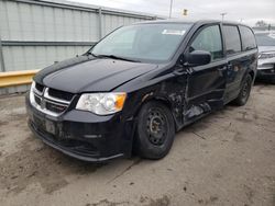
M 157 101 L 145 103 L 138 116 L 135 151 L 142 158 L 162 159 L 170 150 L 175 123 L 170 111 Z

